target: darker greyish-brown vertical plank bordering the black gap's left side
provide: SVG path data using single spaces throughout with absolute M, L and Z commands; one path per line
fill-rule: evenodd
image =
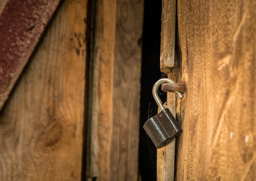
M 110 180 L 137 180 L 144 1 L 117 0 Z

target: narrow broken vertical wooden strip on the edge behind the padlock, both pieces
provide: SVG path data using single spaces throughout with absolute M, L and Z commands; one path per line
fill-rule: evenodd
M 161 28 L 161 55 L 160 68 L 167 73 L 168 78 L 175 82 L 175 20 L 176 20 L 176 1 L 162 1 L 162 28 Z M 173 68 L 174 67 L 174 68 Z M 176 117 L 176 96 L 174 93 L 167 94 L 167 107 Z M 157 150 L 157 180 L 174 180 L 174 160 L 175 160 L 175 141 Z

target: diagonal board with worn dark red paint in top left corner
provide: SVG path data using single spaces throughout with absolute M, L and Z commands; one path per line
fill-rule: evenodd
M 8 99 L 59 2 L 1 0 L 0 109 Z

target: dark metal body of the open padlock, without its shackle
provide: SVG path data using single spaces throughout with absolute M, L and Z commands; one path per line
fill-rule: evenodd
M 157 148 L 166 146 L 181 132 L 180 126 L 168 108 L 146 121 L 143 128 Z

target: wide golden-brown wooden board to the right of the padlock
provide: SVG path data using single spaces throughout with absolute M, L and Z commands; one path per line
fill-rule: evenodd
M 256 180 L 256 2 L 177 6 L 187 83 L 177 180 Z

